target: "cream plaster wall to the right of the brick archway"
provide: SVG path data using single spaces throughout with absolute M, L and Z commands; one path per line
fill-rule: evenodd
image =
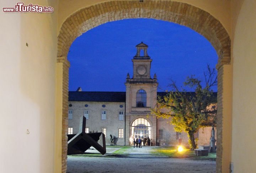
M 233 21 L 233 121 L 232 162 L 234 172 L 256 170 L 256 1 L 244 0 Z M 236 3 L 236 1 L 234 1 Z M 238 7 L 238 8 L 239 8 Z

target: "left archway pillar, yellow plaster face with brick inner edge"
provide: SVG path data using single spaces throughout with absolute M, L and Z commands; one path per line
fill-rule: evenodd
M 55 171 L 66 172 L 68 151 L 68 84 L 70 63 L 66 57 L 57 57 L 56 114 L 55 114 Z M 61 145 L 60 145 L 61 144 Z

